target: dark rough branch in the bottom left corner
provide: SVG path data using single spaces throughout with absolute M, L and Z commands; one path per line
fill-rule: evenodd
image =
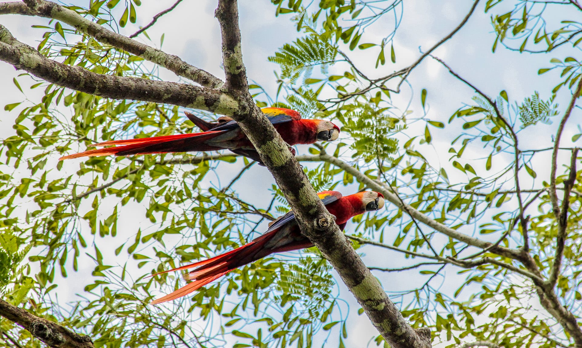
M 70 331 L 65 326 L 36 317 L 33 314 L 0 300 L 0 315 L 27 329 L 31 335 L 52 348 L 94 348 L 89 336 Z

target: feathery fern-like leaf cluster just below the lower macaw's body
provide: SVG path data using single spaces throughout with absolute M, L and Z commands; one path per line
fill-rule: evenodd
M 277 290 L 282 292 L 278 296 L 281 306 L 301 300 L 311 314 L 320 311 L 331 299 L 334 282 L 330 271 L 331 266 L 324 258 L 314 260 L 308 256 L 297 263 L 285 264 L 277 282 Z

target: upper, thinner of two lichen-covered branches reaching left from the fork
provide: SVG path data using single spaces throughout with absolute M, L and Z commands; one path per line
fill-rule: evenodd
M 91 22 L 85 17 L 79 15 L 79 13 L 65 8 L 55 2 L 45 0 L 26 0 L 24 2 L 15 1 L 0 3 L 0 14 L 8 13 L 56 19 L 69 24 L 79 30 L 80 33 L 87 34 L 99 42 L 112 45 L 136 56 L 140 56 L 147 61 L 163 66 L 176 75 L 186 77 L 186 79 L 199 83 L 202 86 L 218 88 L 223 84 L 222 80 L 218 79 L 218 77 L 184 62 L 176 55 L 167 54 L 157 48 L 150 47 L 139 41 L 132 40 L 131 38 L 105 29 L 105 27 Z

